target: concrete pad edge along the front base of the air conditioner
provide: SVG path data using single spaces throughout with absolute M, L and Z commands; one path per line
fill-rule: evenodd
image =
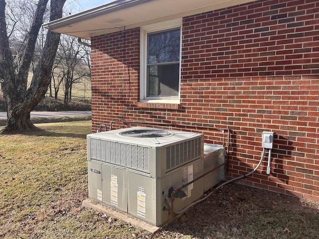
M 137 218 L 133 218 L 128 214 L 116 211 L 115 209 L 113 209 L 107 205 L 95 202 L 89 198 L 82 202 L 82 206 L 86 207 L 86 208 L 92 208 L 92 209 L 97 210 L 101 213 L 107 214 L 109 216 L 112 216 L 112 217 L 117 218 L 119 220 L 122 220 L 124 222 L 130 223 L 131 225 L 138 227 L 138 228 L 141 228 L 143 230 L 147 230 L 150 233 L 156 233 L 157 231 L 160 230 L 159 227 L 151 225 L 151 224 L 144 222 L 142 220 L 139 220 Z

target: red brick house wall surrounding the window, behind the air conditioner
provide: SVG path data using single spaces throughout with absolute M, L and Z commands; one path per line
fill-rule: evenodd
M 318 0 L 255 1 L 185 17 L 182 34 L 181 101 L 169 109 L 138 102 L 139 28 L 92 38 L 93 131 L 115 120 L 188 124 L 180 128 L 225 145 L 214 127 L 228 128 L 227 178 L 257 165 L 262 131 L 273 131 L 271 175 L 265 157 L 240 183 L 319 200 Z

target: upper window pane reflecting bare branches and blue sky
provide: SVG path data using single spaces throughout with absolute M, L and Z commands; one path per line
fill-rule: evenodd
M 148 34 L 148 64 L 179 61 L 180 29 Z

